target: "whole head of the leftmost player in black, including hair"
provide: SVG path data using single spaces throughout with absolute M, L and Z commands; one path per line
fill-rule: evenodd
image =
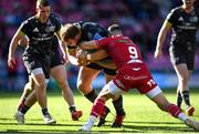
M 38 0 L 36 1 L 36 16 L 41 22 L 46 22 L 51 13 L 51 4 L 49 0 Z

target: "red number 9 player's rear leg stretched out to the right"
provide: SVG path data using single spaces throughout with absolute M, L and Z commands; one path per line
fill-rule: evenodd
M 169 103 L 158 86 L 147 92 L 146 95 L 151 99 L 160 110 L 166 111 L 174 117 L 181 120 L 186 125 L 195 131 L 199 131 L 199 123 L 187 117 L 177 105 Z

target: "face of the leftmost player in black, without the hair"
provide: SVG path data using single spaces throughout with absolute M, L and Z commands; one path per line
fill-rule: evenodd
M 50 6 L 48 6 L 48 7 L 39 6 L 38 16 L 39 16 L 39 19 L 41 20 L 41 22 L 43 22 L 43 23 L 46 22 L 50 13 L 51 13 L 51 7 Z

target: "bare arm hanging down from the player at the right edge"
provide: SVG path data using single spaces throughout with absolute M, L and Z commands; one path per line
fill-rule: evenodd
M 163 55 L 163 45 L 167 33 L 171 30 L 172 24 L 166 19 L 157 38 L 157 45 L 155 51 L 155 58 L 159 59 Z

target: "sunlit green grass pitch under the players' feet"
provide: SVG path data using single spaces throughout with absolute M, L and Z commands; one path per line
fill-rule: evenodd
M 168 100 L 176 103 L 175 90 L 164 91 Z M 191 103 L 196 109 L 195 120 L 199 121 L 199 89 L 191 91 Z M 40 106 L 35 104 L 25 114 L 25 125 L 18 125 L 13 120 L 17 111 L 19 93 L 0 92 L 0 133 L 80 133 L 78 128 L 87 121 L 92 104 L 80 93 L 75 93 L 76 107 L 83 111 L 80 121 L 72 121 L 69 107 L 61 93 L 48 92 L 49 111 L 56 120 L 55 125 L 45 125 L 42 120 Z M 107 116 L 104 126 L 92 128 L 94 133 L 195 133 L 182 122 L 171 117 L 168 113 L 161 112 L 155 103 L 145 95 L 133 91 L 124 94 L 124 107 L 126 117 L 124 126 L 112 128 L 115 111 L 112 101 L 106 104 L 112 113 Z

